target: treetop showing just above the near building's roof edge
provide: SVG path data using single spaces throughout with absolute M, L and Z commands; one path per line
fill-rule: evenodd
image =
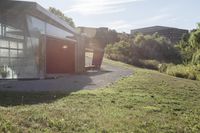
M 61 18 L 62 20 L 66 21 L 70 26 L 75 27 L 73 19 L 65 16 L 65 14 L 62 13 L 59 9 L 56 9 L 54 7 L 49 7 L 49 11 L 54 15 L 58 16 L 59 18 Z

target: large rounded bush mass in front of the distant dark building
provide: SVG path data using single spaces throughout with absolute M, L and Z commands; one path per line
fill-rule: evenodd
M 158 69 L 157 64 L 155 65 L 155 61 L 152 62 L 152 60 L 162 62 L 181 60 L 179 52 L 171 45 L 170 41 L 158 34 L 138 34 L 134 38 L 129 38 L 129 40 L 122 40 L 114 44 L 109 44 L 105 49 L 105 53 L 110 59 L 150 69 Z M 123 57 L 123 60 L 121 57 Z M 130 60 L 132 60 L 132 62 L 130 62 Z

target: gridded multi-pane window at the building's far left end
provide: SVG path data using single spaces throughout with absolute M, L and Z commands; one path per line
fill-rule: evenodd
M 20 29 L 0 24 L 0 78 L 19 78 L 23 71 L 24 32 Z M 19 62 L 22 61 L 22 62 Z M 18 68 L 18 69 L 16 69 Z M 6 75 L 3 73 L 6 72 Z

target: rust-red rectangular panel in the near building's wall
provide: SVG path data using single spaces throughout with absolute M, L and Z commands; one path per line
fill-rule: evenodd
M 66 74 L 75 72 L 75 44 L 47 37 L 46 39 L 47 74 Z

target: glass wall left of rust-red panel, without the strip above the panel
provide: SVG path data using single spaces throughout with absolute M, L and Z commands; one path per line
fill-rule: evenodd
M 39 77 L 39 39 L 45 32 L 45 24 L 27 17 L 27 27 L 24 25 L 24 29 L 1 23 L 0 78 Z

